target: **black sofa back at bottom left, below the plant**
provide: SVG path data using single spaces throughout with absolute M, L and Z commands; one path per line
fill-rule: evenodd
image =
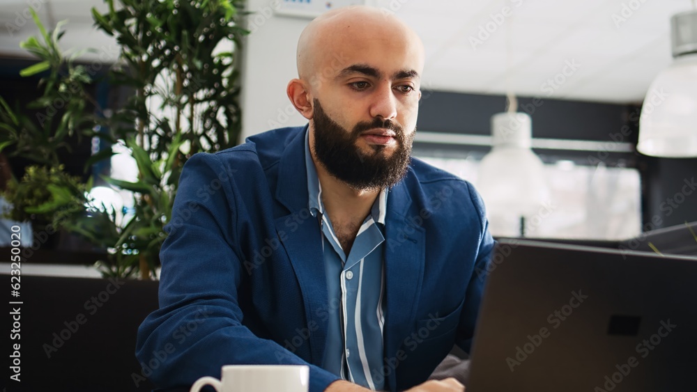
M 1 274 L 10 284 L 10 276 Z M 158 308 L 158 282 L 21 276 L 20 382 L 4 377 L 6 391 L 151 391 L 135 359 L 137 328 Z M 13 306 L 15 308 L 13 308 Z M 6 316 L 8 317 L 8 316 Z M 8 327 L 12 327 L 10 315 Z M 17 337 L 19 339 L 17 340 Z M 15 339 L 12 339 L 15 338 Z M 12 366 L 14 359 L 6 356 Z M 10 370 L 13 375 L 13 370 Z

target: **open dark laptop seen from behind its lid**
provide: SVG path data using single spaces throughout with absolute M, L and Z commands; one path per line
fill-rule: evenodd
M 697 391 L 697 257 L 500 240 L 468 392 Z

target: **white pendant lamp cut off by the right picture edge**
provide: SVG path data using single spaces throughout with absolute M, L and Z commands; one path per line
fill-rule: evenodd
M 671 19 L 673 64 L 646 94 L 636 149 L 653 157 L 697 157 L 697 10 Z

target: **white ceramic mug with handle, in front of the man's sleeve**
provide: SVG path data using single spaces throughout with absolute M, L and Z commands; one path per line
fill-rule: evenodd
M 309 367 L 306 365 L 226 365 L 221 379 L 201 377 L 190 392 L 211 385 L 217 392 L 307 392 Z

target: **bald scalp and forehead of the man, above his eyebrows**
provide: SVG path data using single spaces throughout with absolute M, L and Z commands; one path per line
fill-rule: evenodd
M 422 72 L 422 42 L 404 22 L 368 6 L 338 8 L 314 19 L 300 34 L 298 76 L 305 80 L 330 77 L 343 66 L 369 64 L 372 57 L 391 50 L 404 52 L 413 62 L 410 68 Z

